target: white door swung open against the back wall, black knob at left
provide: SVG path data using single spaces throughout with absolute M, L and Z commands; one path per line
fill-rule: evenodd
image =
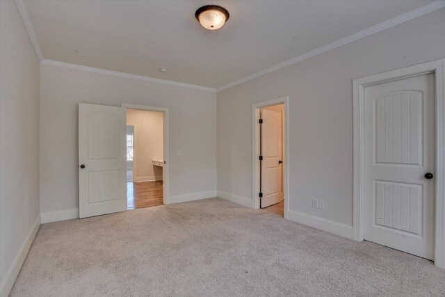
M 79 217 L 127 210 L 126 109 L 79 104 Z

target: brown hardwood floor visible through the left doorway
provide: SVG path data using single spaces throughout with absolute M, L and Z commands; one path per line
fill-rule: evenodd
M 127 209 L 163 204 L 163 181 L 127 182 Z

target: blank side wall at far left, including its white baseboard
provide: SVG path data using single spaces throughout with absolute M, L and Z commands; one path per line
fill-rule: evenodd
M 40 63 L 14 1 L 0 1 L 0 280 L 7 296 L 40 225 Z

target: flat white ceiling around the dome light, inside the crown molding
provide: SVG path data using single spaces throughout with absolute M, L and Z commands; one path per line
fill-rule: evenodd
M 429 2 L 25 1 L 47 60 L 210 88 Z M 208 31 L 195 19 L 195 10 L 206 4 L 229 10 L 222 29 Z

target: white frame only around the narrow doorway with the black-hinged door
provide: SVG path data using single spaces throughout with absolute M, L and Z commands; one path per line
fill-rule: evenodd
M 260 109 L 277 104 L 284 104 L 283 109 L 283 195 L 284 195 L 284 218 L 288 218 L 289 210 L 289 96 L 270 99 L 252 104 L 252 207 L 259 209 L 259 177 L 260 177 L 260 131 L 259 131 L 259 111 Z

